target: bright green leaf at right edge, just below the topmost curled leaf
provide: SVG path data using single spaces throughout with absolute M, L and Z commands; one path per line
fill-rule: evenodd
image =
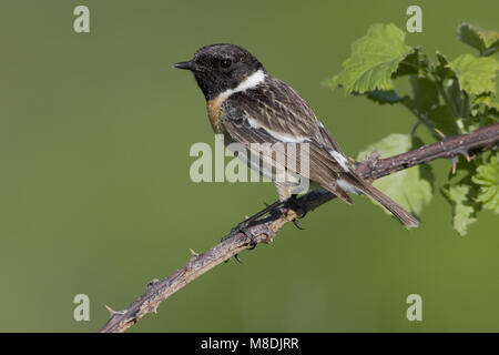
M 476 58 L 461 54 L 449 63 L 450 69 L 459 79 L 459 84 L 468 94 L 496 92 L 496 72 L 499 62 L 491 57 Z

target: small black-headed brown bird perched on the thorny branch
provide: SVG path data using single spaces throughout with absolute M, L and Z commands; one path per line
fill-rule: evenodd
M 312 182 L 310 186 L 319 185 L 348 204 L 352 204 L 348 193 L 365 194 L 408 227 L 418 225 L 410 213 L 353 171 L 307 103 L 289 85 L 268 74 L 245 49 L 234 44 L 206 45 L 192 60 L 174 68 L 193 72 L 206 99 L 213 130 L 224 135 L 226 144 L 238 142 L 247 149 L 254 143 L 307 144 L 305 178 Z M 296 166 L 284 165 L 299 175 Z M 297 193 L 293 191 L 296 183 L 274 183 L 281 202 Z

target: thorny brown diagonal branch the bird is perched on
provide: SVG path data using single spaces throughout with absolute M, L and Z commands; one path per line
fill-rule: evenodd
M 499 123 L 496 123 L 391 158 L 363 161 L 356 164 L 355 171 L 364 179 L 375 180 L 439 158 L 450 159 L 454 164 L 458 155 L 464 155 L 468 160 L 470 156 L 498 146 Z M 306 206 L 307 211 L 312 211 L 334 197 L 335 195 L 328 192 L 313 191 L 299 197 L 299 202 L 301 205 Z M 297 213 L 293 210 L 284 211 L 284 213 L 275 211 L 248 227 L 248 234 L 252 234 L 257 243 L 271 243 L 275 233 L 296 217 Z M 187 264 L 162 280 L 151 281 L 145 293 L 124 311 L 113 311 L 106 306 L 111 317 L 99 332 L 125 332 L 147 313 L 156 313 L 157 306 L 180 288 L 249 246 L 251 237 L 238 233 L 202 254 L 191 250 L 191 260 Z

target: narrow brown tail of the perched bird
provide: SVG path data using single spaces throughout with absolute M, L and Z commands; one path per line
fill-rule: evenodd
M 398 203 L 396 203 L 394 200 L 388 197 L 386 194 L 380 192 L 378 189 L 373 186 L 367 181 L 364 181 L 363 179 L 353 174 L 348 174 L 348 176 L 345 176 L 343 179 L 346 180 L 348 184 L 353 185 L 357 190 L 360 190 L 361 193 L 368 195 L 377 203 L 379 203 L 381 206 L 390 211 L 391 214 L 401 223 L 404 223 L 407 227 L 413 229 L 418 226 L 419 224 L 418 220 L 416 220 L 409 212 L 404 210 Z

